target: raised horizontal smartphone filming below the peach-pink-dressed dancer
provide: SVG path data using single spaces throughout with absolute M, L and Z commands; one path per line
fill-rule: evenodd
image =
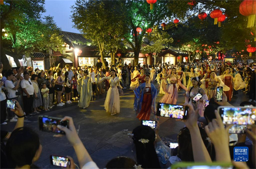
M 158 103 L 157 104 L 157 116 L 186 119 L 188 113 L 188 107 L 177 105 Z

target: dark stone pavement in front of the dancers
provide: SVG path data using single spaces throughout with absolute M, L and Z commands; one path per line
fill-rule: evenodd
M 179 90 L 177 104 L 184 103 L 184 91 Z M 158 102 L 163 95 L 158 95 Z M 239 96 L 234 96 L 231 104 L 238 106 L 240 102 L 246 101 L 248 97 L 239 91 Z M 51 111 L 41 112 L 39 115 L 49 115 L 54 117 L 64 117 L 66 115 L 73 118 L 79 137 L 90 153 L 93 161 L 100 168 L 104 168 L 106 163 L 117 156 L 127 156 L 136 159 L 136 154 L 132 152 L 132 139 L 128 137 L 135 127 L 140 125 L 133 111 L 133 91 L 125 90 L 125 96 L 120 97 L 120 114 L 111 116 L 106 113 L 103 107 L 105 95 L 98 96 L 96 101 L 91 101 L 87 109 L 77 107 L 77 103 L 65 104 L 63 107 L 54 107 Z M 159 119 L 160 137 L 166 142 L 177 139 L 177 133 L 184 127 L 183 122 L 175 121 L 171 118 Z M 1 126 L 1 130 L 12 131 L 15 122 L 9 122 Z M 78 163 L 76 154 L 70 146 L 67 138 L 55 138 L 53 133 L 41 132 L 38 130 L 38 115 L 25 119 L 25 126 L 31 127 L 40 136 L 43 151 L 40 159 L 35 163 L 40 168 L 58 168 L 52 166 L 49 155 L 69 155 Z

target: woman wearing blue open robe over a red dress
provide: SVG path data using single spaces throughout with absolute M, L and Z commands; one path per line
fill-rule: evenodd
M 137 118 L 140 120 L 149 120 L 151 113 L 156 113 L 155 99 L 157 98 L 157 89 L 150 83 L 150 76 L 147 74 L 145 83 L 134 90 L 134 110 L 137 111 Z

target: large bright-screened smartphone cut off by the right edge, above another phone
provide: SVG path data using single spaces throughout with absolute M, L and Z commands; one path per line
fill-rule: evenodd
M 256 107 L 218 107 L 223 124 L 252 125 L 256 120 Z

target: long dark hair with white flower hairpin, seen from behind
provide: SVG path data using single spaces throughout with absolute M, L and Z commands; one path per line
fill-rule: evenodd
M 160 169 L 157 152 L 154 147 L 156 134 L 151 127 L 138 126 L 132 131 L 133 141 L 136 147 L 137 163 L 143 169 Z M 146 139 L 148 143 L 142 143 L 140 139 Z

